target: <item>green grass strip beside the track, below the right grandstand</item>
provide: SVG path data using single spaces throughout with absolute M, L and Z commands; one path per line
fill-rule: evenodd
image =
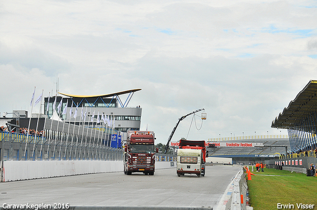
M 296 203 L 314 204 L 314 210 L 317 210 L 317 177 L 272 168 L 252 173 L 256 175 L 248 181 L 248 188 L 254 210 L 277 210 L 278 203 L 293 204 L 295 210 L 298 209 Z

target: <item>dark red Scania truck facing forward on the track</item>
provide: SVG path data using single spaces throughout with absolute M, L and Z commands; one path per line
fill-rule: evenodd
M 128 131 L 124 148 L 125 174 L 143 172 L 146 175 L 154 175 L 155 152 L 159 152 L 159 148 L 154 148 L 154 140 L 153 131 Z

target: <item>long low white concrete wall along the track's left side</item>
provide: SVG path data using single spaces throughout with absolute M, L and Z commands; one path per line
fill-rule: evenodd
M 1 181 L 123 171 L 122 161 L 3 161 Z M 175 168 L 175 162 L 156 162 L 156 169 Z

